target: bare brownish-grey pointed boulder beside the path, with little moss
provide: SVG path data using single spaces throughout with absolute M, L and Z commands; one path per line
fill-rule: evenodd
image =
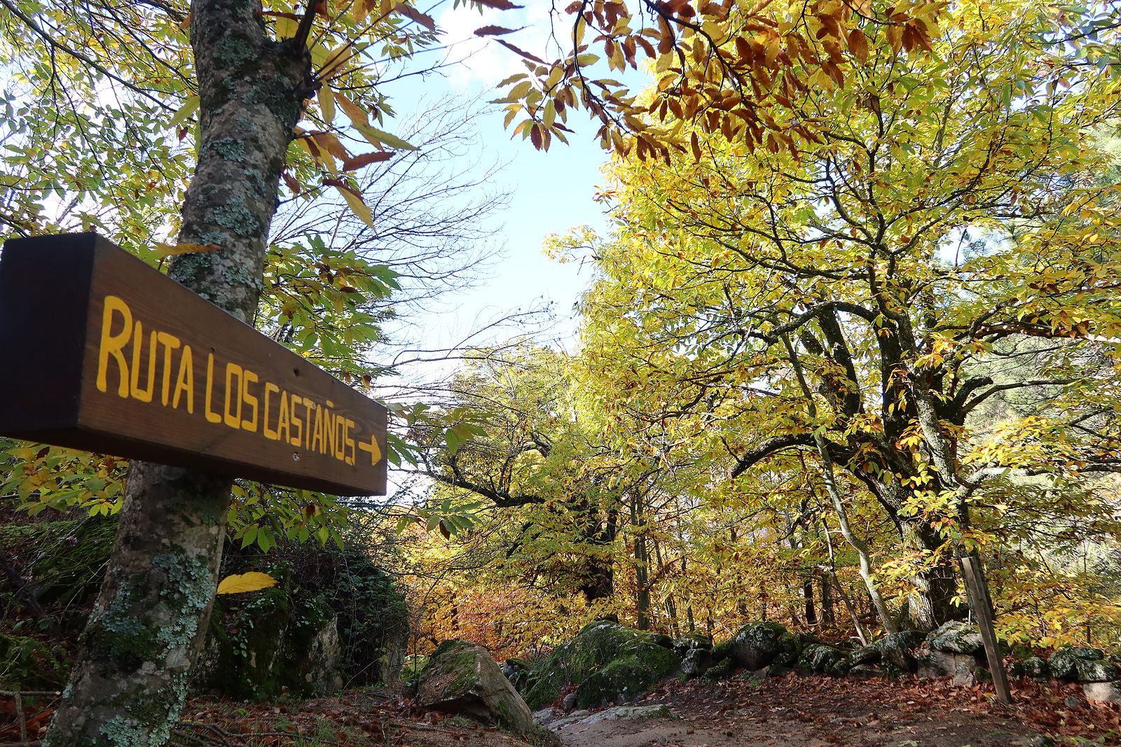
M 445 641 L 437 646 L 420 672 L 413 702 L 520 735 L 535 728 L 532 712 L 490 653 L 466 641 Z

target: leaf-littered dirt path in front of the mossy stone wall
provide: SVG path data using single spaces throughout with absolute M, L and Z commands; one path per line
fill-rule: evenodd
M 1003 747 L 1027 745 L 1051 730 L 1046 726 L 1054 721 L 1058 731 L 1102 737 L 1101 729 L 1080 727 L 1076 712 L 1110 723 L 1118 711 L 1103 707 L 1099 712 L 1074 700 L 1040 691 L 1003 708 L 980 690 L 914 680 L 694 682 L 669 685 L 636 703 L 664 703 L 676 719 L 577 723 L 558 736 L 566 747 Z M 1118 731 L 1112 740 L 1105 736 L 1106 744 L 1118 744 Z

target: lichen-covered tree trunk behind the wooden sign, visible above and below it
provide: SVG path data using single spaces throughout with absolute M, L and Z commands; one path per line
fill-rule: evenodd
M 303 46 L 265 34 L 260 2 L 198 0 L 191 38 L 201 142 L 170 276 L 251 324 L 293 128 L 308 94 Z M 133 461 L 120 526 L 45 745 L 163 745 L 205 638 L 232 479 Z

